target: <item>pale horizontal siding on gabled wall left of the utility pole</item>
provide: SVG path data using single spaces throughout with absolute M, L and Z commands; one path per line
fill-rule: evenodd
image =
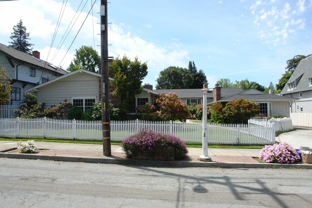
M 99 80 L 97 76 L 87 73 L 77 73 L 64 79 L 45 85 L 37 93 L 38 103 L 45 103 L 45 108 L 57 105 L 72 97 L 94 97 L 99 100 Z

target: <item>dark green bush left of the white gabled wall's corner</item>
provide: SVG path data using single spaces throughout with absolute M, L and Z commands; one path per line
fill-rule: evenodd
M 44 103 L 37 104 L 37 96 L 32 93 L 24 95 L 22 105 L 15 110 L 16 114 L 20 118 L 39 118 L 43 114 Z

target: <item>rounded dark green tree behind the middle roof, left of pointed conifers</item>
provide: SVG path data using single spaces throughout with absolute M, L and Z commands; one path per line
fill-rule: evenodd
M 159 73 L 156 89 L 189 89 L 191 80 L 192 75 L 186 68 L 169 66 Z

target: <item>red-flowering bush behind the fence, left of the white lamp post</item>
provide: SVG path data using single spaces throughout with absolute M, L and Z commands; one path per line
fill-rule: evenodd
M 137 107 L 137 112 L 142 114 L 143 119 L 152 121 L 186 121 L 190 112 L 187 105 L 181 103 L 178 95 L 175 93 L 160 94 L 156 99 L 156 106 L 145 104 L 143 107 Z

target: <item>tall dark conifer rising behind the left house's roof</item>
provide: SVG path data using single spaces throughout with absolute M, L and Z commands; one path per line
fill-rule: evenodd
M 18 51 L 22 51 L 24 53 L 32 54 L 32 48 L 34 44 L 28 43 L 27 40 L 30 40 L 29 32 L 26 32 L 26 27 L 23 26 L 22 19 L 17 23 L 17 25 L 13 26 L 13 32 L 11 33 L 10 38 L 13 40 L 9 47 L 12 47 Z

